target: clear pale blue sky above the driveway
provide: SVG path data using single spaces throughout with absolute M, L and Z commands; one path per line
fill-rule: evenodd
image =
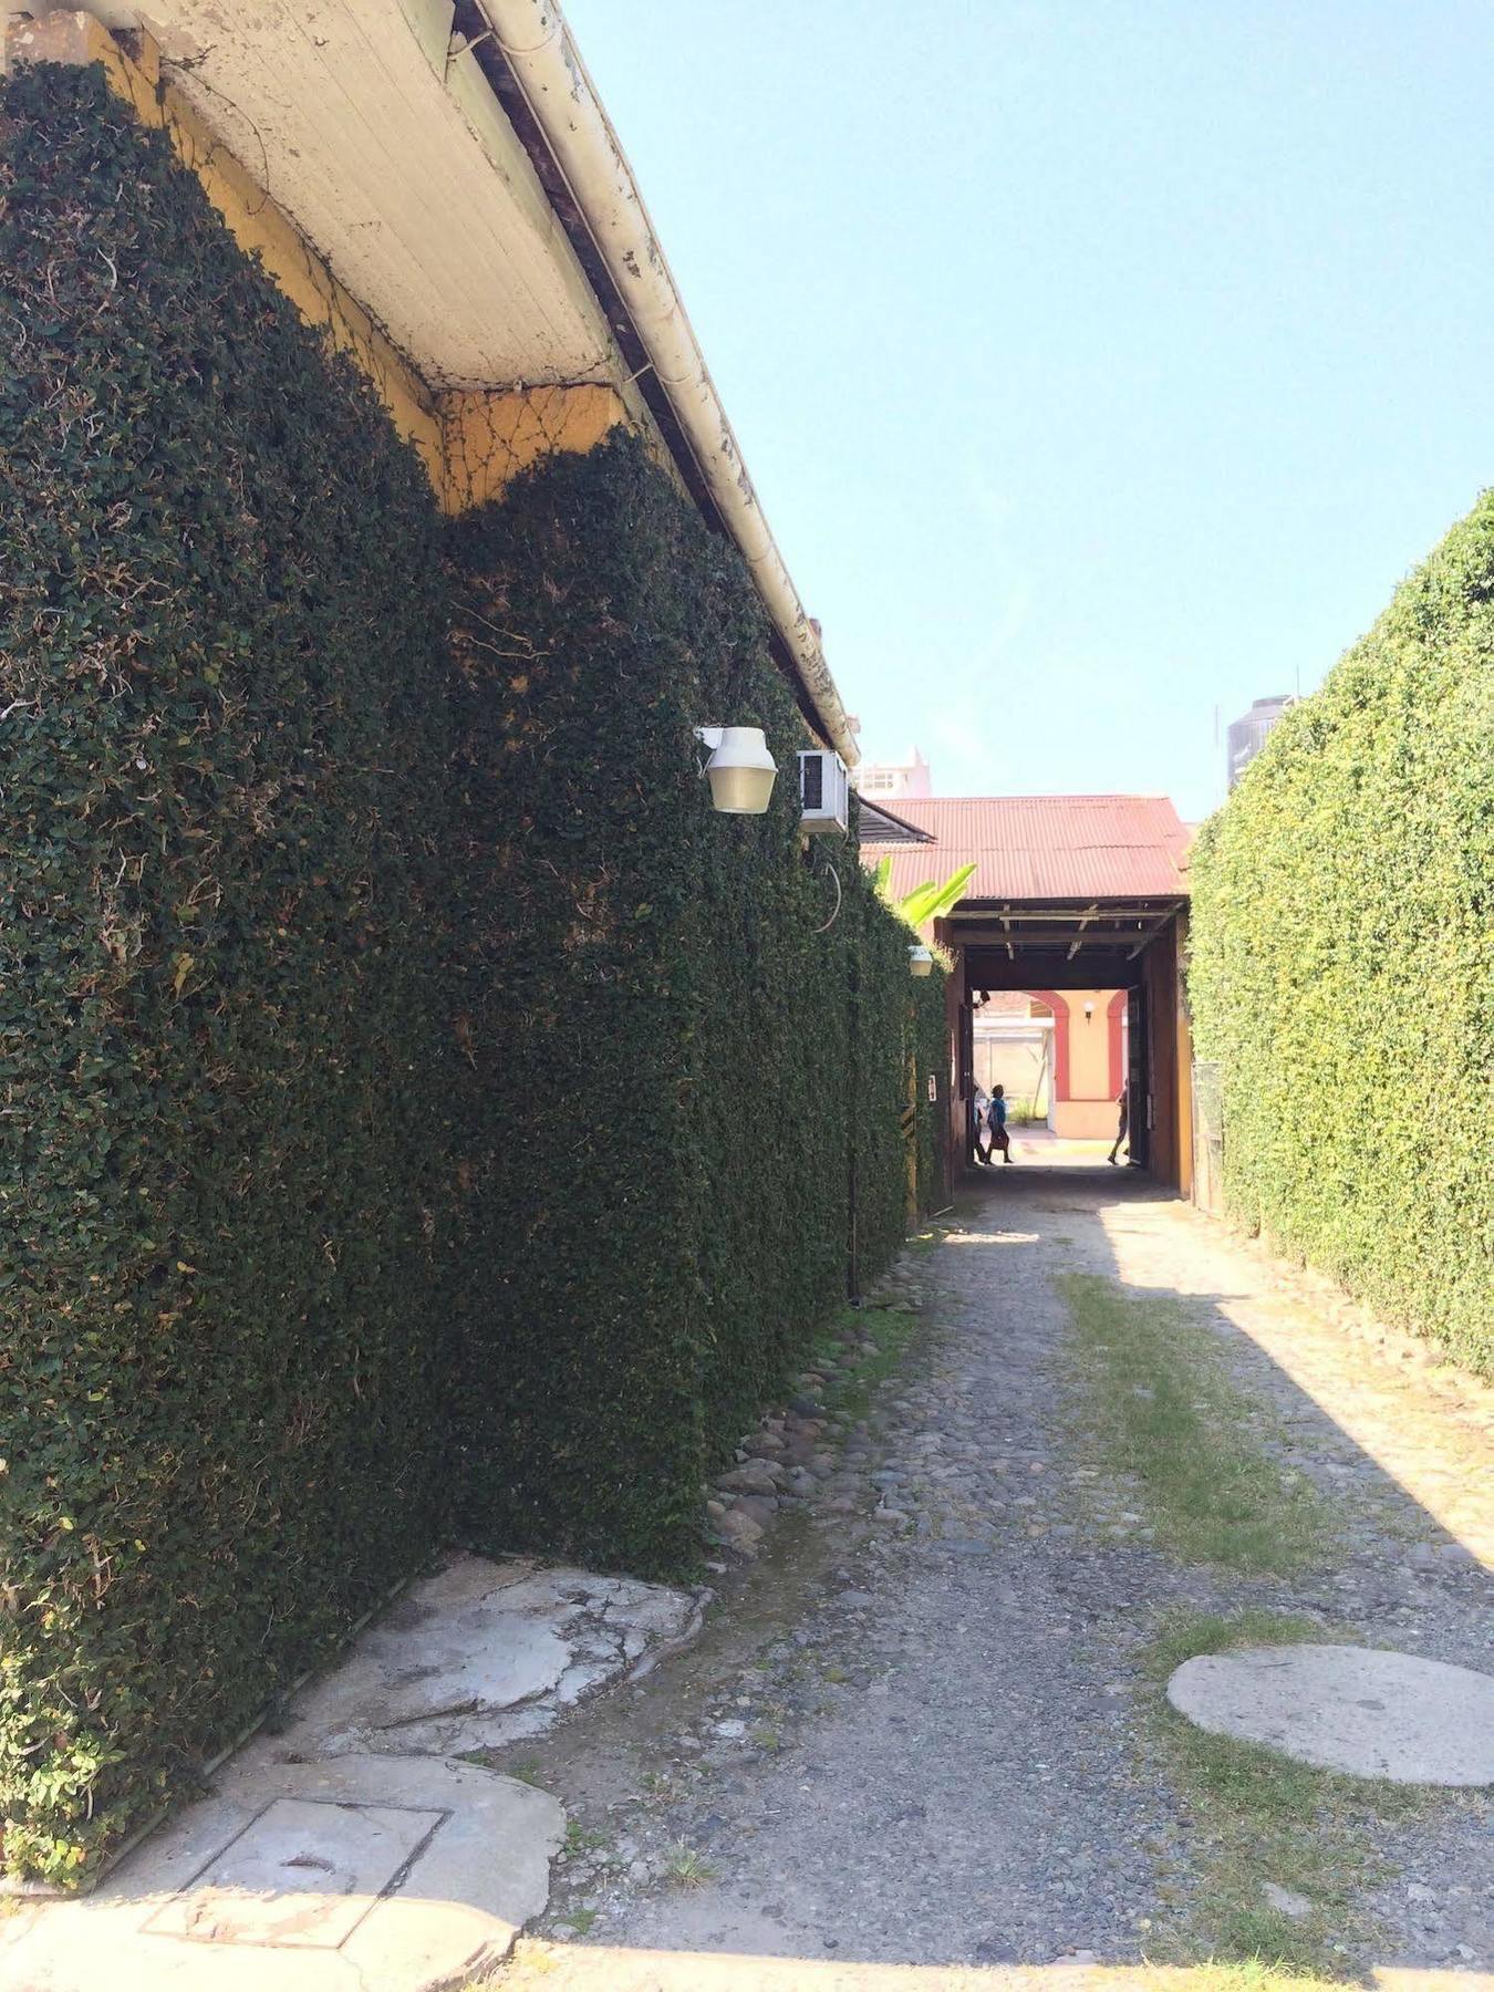
M 1223 795 L 1494 482 L 1486 0 L 566 0 L 869 759 Z

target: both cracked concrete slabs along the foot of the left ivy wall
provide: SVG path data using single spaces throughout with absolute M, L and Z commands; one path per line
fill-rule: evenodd
M 701 1604 L 450 1558 L 94 1894 L 0 1920 L 2 1992 L 424 1992 L 484 1972 L 544 1908 L 566 1815 L 456 1755 L 637 1677 Z

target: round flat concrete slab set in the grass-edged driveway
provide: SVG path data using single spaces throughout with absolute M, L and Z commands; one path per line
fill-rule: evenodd
M 1211 1735 L 1396 1785 L 1494 1785 L 1494 1677 L 1359 1645 L 1185 1659 L 1167 1699 Z

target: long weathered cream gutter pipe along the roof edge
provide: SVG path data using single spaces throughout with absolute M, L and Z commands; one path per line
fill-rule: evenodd
M 855 767 L 861 755 L 825 661 L 819 631 L 763 518 L 633 171 L 560 8 L 554 0 L 468 0 L 456 12 L 458 22 L 464 14 L 482 16 L 492 32 L 502 68 L 528 112 L 528 118 L 514 120 L 514 127 L 530 143 L 532 155 L 532 135 L 544 141 L 550 161 L 564 179 L 570 199 L 558 203 L 556 213 L 572 233 L 588 273 L 598 263 L 606 271 L 602 305 L 604 309 L 612 301 L 622 305 L 627 327 L 641 347 L 647 374 L 657 382 L 657 398 L 649 392 L 647 376 L 637 384 L 659 420 L 681 476 L 697 498 L 707 500 L 709 512 L 737 542 L 773 622 L 781 661 L 797 681 L 811 725 L 849 767 Z M 502 88 L 494 76 L 492 42 L 474 34 L 470 48 L 512 116 L 514 90 Z M 542 159 L 536 157 L 534 163 L 540 177 L 552 185 Z M 586 245 L 576 239 L 578 227 L 586 233 Z M 584 247 L 592 253 L 586 255 Z M 616 317 L 614 329 L 625 351 L 629 341 L 622 341 Z

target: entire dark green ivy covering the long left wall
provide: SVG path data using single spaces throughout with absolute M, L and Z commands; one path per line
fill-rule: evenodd
M 66 1878 L 434 1546 L 689 1558 L 853 1139 L 896 1241 L 910 1024 L 637 444 L 448 542 L 98 72 L 0 86 L 0 1811 Z

